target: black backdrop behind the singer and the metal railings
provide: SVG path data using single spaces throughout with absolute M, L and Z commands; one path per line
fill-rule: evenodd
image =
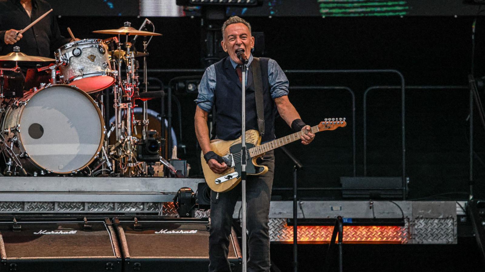
M 93 30 L 121 27 L 130 21 L 135 28 L 144 18 L 71 17 L 59 18 L 61 31 L 70 27 L 80 38 L 107 38 Z M 265 33 L 265 57 L 291 69 L 397 69 L 406 85 L 467 86 L 471 65 L 473 17 L 246 17 L 253 31 Z M 150 18 L 157 32 L 149 46 L 149 68 L 201 68 L 200 18 Z M 476 76 L 484 76 L 485 20 L 476 25 Z M 201 73 L 150 73 L 167 84 L 174 76 Z M 362 100 L 374 85 L 399 85 L 392 74 L 343 75 L 287 73 L 291 86 L 347 86 L 356 94 L 357 175 L 363 174 Z M 482 99 L 484 91 L 481 92 Z M 182 141 L 191 175 L 200 174 L 193 116 L 193 94 L 176 94 L 181 105 Z M 422 197 L 468 190 L 468 90 L 408 90 L 406 93 L 407 176 L 410 196 Z M 317 135 L 309 147 L 293 143 L 288 148 L 306 168 L 300 174 L 302 187 L 339 186 L 340 176 L 353 175 L 350 96 L 345 91 L 291 90 L 290 100 L 308 124 L 326 117 L 346 117 L 348 126 Z M 368 175 L 401 175 L 401 94 L 377 90 L 368 96 Z M 157 104 L 150 107 L 158 110 Z M 175 107 L 175 105 L 174 105 Z M 477 116 L 477 115 L 475 115 Z M 475 118 L 475 175 L 483 192 L 484 128 Z M 178 126 L 174 111 L 174 126 Z M 276 136 L 291 131 L 277 121 Z M 177 134 L 178 130 L 177 130 Z M 180 135 L 178 135 L 180 137 Z M 275 187 L 290 187 L 291 162 L 276 151 Z M 274 192 L 274 195 L 290 194 Z M 306 192 L 305 197 L 339 197 L 337 192 Z M 465 195 L 459 195 L 465 197 Z

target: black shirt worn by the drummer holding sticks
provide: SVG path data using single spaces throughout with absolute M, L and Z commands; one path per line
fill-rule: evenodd
M 29 56 L 52 58 L 55 50 L 69 43 L 69 39 L 61 35 L 56 17 L 51 12 L 25 31 L 20 41 L 14 45 L 5 44 L 6 30 L 21 30 L 50 9 L 48 2 L 32 0 L 32 14 L 29 17 L 20 0 L 0 0 L 0 55 L 13 52 L 14 46 L 19 46 L 20 52 Z

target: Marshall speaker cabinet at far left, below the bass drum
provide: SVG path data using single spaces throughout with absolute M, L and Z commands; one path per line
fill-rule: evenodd
M 0 272 L 122 271 L 107 218 L 0 219 Z

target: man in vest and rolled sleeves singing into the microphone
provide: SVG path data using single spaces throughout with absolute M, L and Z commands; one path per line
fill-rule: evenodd
M 230 17 L 222 26 L 222 48 L 229 56 L 210 65 L 204 73 L 199 85 L 199 95 L 195 102 L 195 133 L 199 141 L 204 158 L 214 173 L 222 173 L 227 166 L 222 158 L 210 150 L 210 137 L 207 119 L 209 112 L 214 109 L 215 128 L 213 136 L 223 140 L 235 140 L 241 136 L 241 60 L 237 57 L 237 50 L 243 50 L 248 57 L 246 71 L 246 130 L 264 127 L 261 142 L 275 139 L 275 111 L 295 131 L 309 130 L 300 115 L 288 99 L 288 79 L 276 63 L 268 58 L 255 58 L 251 54 L 254 47 L 254 37 L 251 36 L 251 26 L 238 16 Z M 254 67 L 259 65 L 262 81 L 263 116 L 258 116 L 256 84 L 253 82 Z M 260 114 L 261 115 L 261 114 Z M 258 123 L 264 119 L 264 125 Z M 215 133 L 214 133 L 215 132 Z M 302 144 L 309 144 L 315 135 L 308 132 L 301 136 Z M 249 234 L 249 259 L 247 271 L 270 271 L 270 239 L 269 239 L 269 208 L 271 188 L 275 169 L 274 151 L 269 151 L 258 164 L 268 166 L 266 174 L 248 176 L 246 182 L 247 198 L 247 230 Z M 210 237 L 209 237 L 209 271 L 230 272 L 227 260 L 229 239 L 231 232 L 234 206 L 241 196 L 241 186 L 220 193 L 217 197 L 211 192 L 210 203 Z

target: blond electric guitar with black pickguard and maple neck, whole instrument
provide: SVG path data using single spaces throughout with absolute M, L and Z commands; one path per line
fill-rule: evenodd
M 317 133 L 324 130 L 335 130 L 338 127 L 344 127 L 346 125 L 345 118 L 325 118 L 325 121 L 320 122 L 309 131 Z M 300 140 L 301 136 L 307 133 L 307 130 L 300 131 L 261 145 L 261 136 L 257 130 L 246 131 L 246 174 L 263 175 L 268 172 L 268 167 L 257 165 L 256 159 L 268 151 Z M 241 181 L 241 137 L 233 141 L 225 141 L 221 139 L 211 140 L 210 150 L 214 151 L 224 159 L 227 169 L 222 174 L 212 172 L 204 159 L 204 154 L 201 153 L 200 160 L 202 163 L 202 170 L 204 171 L 204 178 L 212 191 L 218 193 L 227 192 L 236 187 Z

